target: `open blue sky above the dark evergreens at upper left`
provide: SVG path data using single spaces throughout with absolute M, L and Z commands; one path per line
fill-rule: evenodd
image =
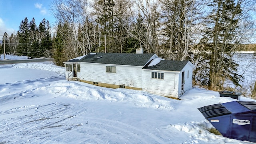
M 4 32 L 9 36 L 16 33 L 25 17 L 28 18 L 28 22 L 34 17 L 37 26 L 43 18 L 49 20 L 51 25 L 54 24 L 51 3 L 52 0 L 0 0 L 0 39 Z

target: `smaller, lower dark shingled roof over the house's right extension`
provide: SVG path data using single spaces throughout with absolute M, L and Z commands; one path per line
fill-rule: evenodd
M 178 61 L 178 60 L 161 60 L 158 64 L 154 66 L 144 67 L 147 70 L 170 70 L 180 72 L 184 66 L 188 63 L 188 60 Z

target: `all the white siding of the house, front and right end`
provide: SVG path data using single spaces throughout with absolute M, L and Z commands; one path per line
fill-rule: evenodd
M 192 89 L 192 73 L 194 66 L 189 62 L 181 72 L 145 70 L 142 66 L 123 66 L 114 64 L 80 64 L 80 80 L 100 82 L 106 84 L 125 85 L 162 95 L 179 98 L 184 92 Z M 106 72 L 106 66 L 116 66 L 116 73 Z M 184 90 L 181 90 L 181 76 L 184 71 Z M 151 72 L 164 73 L 164 79 L 151 78 Z M 66 72 L 66 77 L 69 72 Z M 72 74 L 72 73 L 70 73 Z

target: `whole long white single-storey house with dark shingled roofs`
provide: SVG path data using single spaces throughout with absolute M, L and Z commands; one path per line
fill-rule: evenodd
M 179 98 L 192 89 L 194 65 L 156 54 L 90 53 L 64 62 L 66 78 L 108 88 L 128 88 Z

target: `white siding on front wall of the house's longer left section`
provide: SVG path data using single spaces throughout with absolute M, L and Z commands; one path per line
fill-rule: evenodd
M 106 66 L 116 66 L 116 73 L 106 72 Z M 81 80 L 142 88 L 142 66 L 80 62 L 80 75 Z

